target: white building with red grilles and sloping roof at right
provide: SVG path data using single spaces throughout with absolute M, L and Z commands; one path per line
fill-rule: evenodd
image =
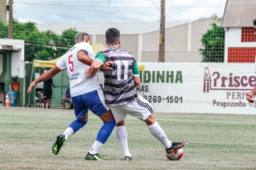
M 256 36 L 252 21 L 255 18 L 255 0 L 227 0 L 221 24 L 225 30 L 225 63 L 254 63 Z

